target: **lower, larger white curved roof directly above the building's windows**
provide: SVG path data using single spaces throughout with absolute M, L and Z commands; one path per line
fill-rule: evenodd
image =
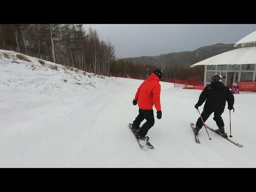
M 256 33 L 255 33 L 256 34 Z M 228 52 L 218 54 L 208 59 L 193 64 L 190 67 L 198 65 L 241 65 L 256 64 L 256 46 L 242 47 Z

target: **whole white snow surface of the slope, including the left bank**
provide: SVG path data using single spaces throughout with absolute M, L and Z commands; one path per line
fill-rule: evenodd
M 138 115 L 132 100 L 142 80 L 56 71 L 28 58 L 17 64 L 0 56 L 0 167 L 256 167 L 255 94 L 234 95 L 232 140 L 243 148 L 212 131 L 208 140 L 204 127 L 197 144 L 190 123 L 201 91 L 160 82 L 162 119 L 153 108 L 148 132 L 154 150 L 141 150 L 128 124 Z M 227 105 L 222 118 L 229 134 Z M 206 124 L 217 128 L 213 114 Z

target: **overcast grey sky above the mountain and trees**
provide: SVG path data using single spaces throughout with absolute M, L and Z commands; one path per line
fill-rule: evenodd
M 115 45 L 118 58 L 192 51 L 216 43 L 236 43 L 256 24 L 84 24 Z

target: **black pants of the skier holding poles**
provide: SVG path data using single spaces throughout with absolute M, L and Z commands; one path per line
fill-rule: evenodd
M 203 110 L 201 116 L 202 116 L 202 119 L 204 122 L 206 122 L 206 120 L 210 117 L 210 115 L 213 113 L 214 111 L 211 111 L 211 112 L 207 112 L 205 110 Z M 224 122 L 221 118 L 221 115 L 222 115 L 223 112 L 214 112 L 214 118 L 213 120 L 216 121 L 216 124 L 218 127 L 224 127 Z M 196 126 L 198 128 L 202 128 L 203 126 L 203 122 L 202 122 L 202 119 L 199 117 L 197 122 L 196 122 Z

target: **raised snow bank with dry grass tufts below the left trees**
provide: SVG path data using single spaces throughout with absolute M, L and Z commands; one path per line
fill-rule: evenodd
M 28 90 L 48 97 L 102 88 L 112 79 L 76 68 L 0 50 L 0 92 Z

